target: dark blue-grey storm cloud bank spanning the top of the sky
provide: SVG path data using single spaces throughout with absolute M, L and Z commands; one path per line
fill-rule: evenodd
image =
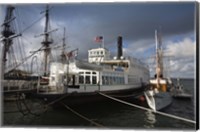
M 24 23 L 38 19 L 45 6 L 16 5 L 23 12 Z M 127 41 L 151 39 L 154 38 L 154 30 L 160 26 L 166 36 L 194 31 L 194 2 L 69 3 L 51 6 L 50 17 L 54 22 L 63 23 L 68 33 L 74 35 L 72 37 L 81 39 L 92 39 L 100 34 L 108 43 L 113 43 L 118 35 Z M 37 33 L 38 29 L 32 28 L 31 31 Z

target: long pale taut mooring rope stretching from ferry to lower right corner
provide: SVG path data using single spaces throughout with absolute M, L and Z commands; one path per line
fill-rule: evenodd
M 100 95 L 104 96 L 104 97 L 107 97 L 109 99 L 112 99 L 112 100 L 115 100 L 117 102 L 120 102 L 120 103 L 123 103 L 123 104 L 126 104 L 126 105 L 129 105 L 129 106 L 133 106 L 133 107 L 136 107 L 136 108 L 139 108 L 139 109 L 142 109 L 142 110 L 146 110 L 146 111 L 151 111 L 155 114 L 160 114 L 160 115 L 163 115 L 163 116 L 167 116 L 167 117 L 171 117 L 171 118 L 174 118 L 174 119 L 178 119 L 178 120 L 182 120 L 182 121 L 186 121 L 186 122 L 190 122 L 190 123 L 194 123 L 196 124 L 195 121 L 193 120 L 189 120 L 189 119 L 186 119 L 186 118 L 182 118 L 182 117 L 178 117 L 178 116 L 175 116 L 175 115 L 171 115 L 171 114 L 167 114 L 167 113 L 163 113 L 163 112 L 160 112 L 160 111 L 154 111 L 152 109 L 148 109 L 148 108 L 145 108 L 145 107 L 142 107 L 142 106 L 139 106 L 139 105 L 135 105 L 135 104 L 132 104 L 132 103 L 129 103 L 129 102 L 125 102 L 123 100 L 119 100 L 119 99 L 116 99 L 114 97 L 111 97 L 109 95 L 106 95 L 106 94 L 103 94 L 101 92 L 98 92 Z

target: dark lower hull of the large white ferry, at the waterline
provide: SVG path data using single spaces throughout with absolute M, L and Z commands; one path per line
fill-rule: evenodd
M 110 96 L 119 97 L 119 98 L 130 98 L 136 97 L 138 95 L 142 95 L 145 87 L 137 87 L 137 88 L 130 88 L 125 90 L 110 90 L 110 91 L 95 91 L 95 92 L 85 92 L 85 93 L 39 93 L 34 94 L 37 98 L 43 99 L 48 103 L 56 101 L 55 104 L 62 101 L 65 104 L 83 104 L 83 103 L 90 103 L 96 101 L 104 101 L 106 100 L 105 97 L 101 96 L 99 92 L 108 94 Z M 129 95 L 129 96 L 127 96 Z

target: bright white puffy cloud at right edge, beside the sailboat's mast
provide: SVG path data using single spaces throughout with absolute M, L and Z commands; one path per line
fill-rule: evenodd
M 166 46 L 170 57 L 169 72 L 173 77 L 194 78 L 196 42 L 184 38 L 178 42 L 168 42 Z M 168 53 L 167 52 L 167 53 Z

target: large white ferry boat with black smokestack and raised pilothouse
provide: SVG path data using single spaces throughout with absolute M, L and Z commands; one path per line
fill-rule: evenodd
M 106 48 L 90 49 L 88 62 L 77 58 L 67 63 L 50 64 L 49 84 L 40 87 L 43 97 L 89 96 L 98 92 L 108 94 L 134 94 L 144 91 L 149 84 L 149 68 L 135 58 L 122 55 L 122 37 L 118 37 L 117 57 L 110 59 Z M 79 98 L 81 99 L 81 98 Z

